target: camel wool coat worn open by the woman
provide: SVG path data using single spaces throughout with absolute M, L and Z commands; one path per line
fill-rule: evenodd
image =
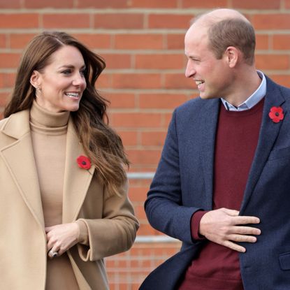
M 71 247 L 68 257 L 80 290 L 107 290 L 103 258 L 131 247 L 138 221 L 126 194 L 110 196 L 94 166 L 78 167 L 80 155 L 85 152 L 69 119 L 62 222 L 82 219 L 89 246 Z M 48 258 L 29 110 L 0 121 L 0 234 L 0 289 L 44 290 Z

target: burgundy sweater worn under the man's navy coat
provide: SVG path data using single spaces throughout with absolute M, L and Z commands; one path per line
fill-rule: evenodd
M 215 144 L 213 209 L 240 210 L 242 198 L 259 138 L 263 99 L 250 110 L 227 111 L 221 103 Z M 198 225 L 205 212 L 191 219 L 191 235 L 198 236 Z M 180 290 L 242 290 L 238 252 L 207 241 L 192 261 Z

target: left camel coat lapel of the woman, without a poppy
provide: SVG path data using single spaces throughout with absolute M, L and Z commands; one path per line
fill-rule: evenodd
M 41 192 L 29 128 L 29 110 L 11 115 L 2 132 L 15 140 L 10 145 L 1 148 L 1 157 L 10 171 L 24 203 L 44 229 Z

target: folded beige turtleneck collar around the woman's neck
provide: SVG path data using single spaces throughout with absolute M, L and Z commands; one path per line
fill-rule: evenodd
M 68 124 L 69 115 L 70 112 L 68 111 L 53 113 L 45 110 L 45 108 L 39 106 L 35 100 L 32 103 L 30 109 L 30 121 L 32 124 L 37 126 L 44 126 L 50 128 L 66 126 Z

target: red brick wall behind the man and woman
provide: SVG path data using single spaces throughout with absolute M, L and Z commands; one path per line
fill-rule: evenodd
M 97 85 L 111 101 L 110 124 L 124 140 L 130 171 L 154 171 L 173 108 L 198 94 L 184 77 L 184 33 L 191 17 L 217 7 L 238 9 L 251 20 L 257 67 L 289 86 L 290 0 L 0 0 L 0 117 L 29 39 L 45 29 L 67 31 L 107 61 Z M 129 194 L 141 224 L 138 235 L 158 234 L 143 210 L 149 183 L 131 181 Z M 126 260 L 123 266 L 136 270 L 139 261 L 144 276 L 150 266 L 142 266 L 143 252 L 136 256 L 136 247 L 154 245 L 138 244 L 132 257 L 129 252 L 110 258 L 108 267 L 119 263 L 113 264 L 113 273 Z M 112 289 L 136 289 L 143 276 L 124 285 L 114 280 Z

